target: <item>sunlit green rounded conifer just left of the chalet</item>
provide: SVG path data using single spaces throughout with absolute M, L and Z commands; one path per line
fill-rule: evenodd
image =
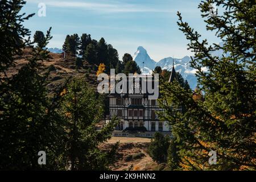
M 114 162 L 117 144 L 108 151 L 98 148 L 100 143 L 112 137 L 112 121 L 101 131 L 96 124 L 103 117 L 102 98 L 96 96 L 93 88 L 88 88 L 83 78 L 73 78 L 63 96 L 60 113 L 64 116 L 67 131 L 66 155 L 71 170 L 105 170 Z

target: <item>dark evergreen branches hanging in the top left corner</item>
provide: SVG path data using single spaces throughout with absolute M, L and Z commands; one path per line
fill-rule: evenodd
M 20 9 L 22 9 L 25 3 L 24 1 L 0 1 L 1 73 L 14 64 L 14 56 L 20 55 L 21 49 L 28 45 L 28 42 L 24 41 L 23 38 L 29 36 L 30 31 L 21 23 L 34 14 L 26 16 L 19 14 Z

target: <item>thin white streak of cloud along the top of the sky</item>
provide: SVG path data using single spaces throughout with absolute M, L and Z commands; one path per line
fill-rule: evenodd
M 46 3 L 46 6 L 76 8 L 97 11 L 100 13 L 136 13 L 136 12 L 151 12 L 151 13 L 170 13 L 172 10 L 156 9 L 146 7 L 145 5 L 135 5 L 131 3 L 100 3 L 100 2 L 80 2 L 80 1 L 48 1 L 48 0 L 27 0 L 30 3 Z

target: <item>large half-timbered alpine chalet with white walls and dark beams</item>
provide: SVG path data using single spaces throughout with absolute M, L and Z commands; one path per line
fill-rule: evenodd
M 143 77 L 143 75 L 134 75 L 133 77 L 136 79 L 137 77 Z M 176 72 L 173 67 L 169 82 L 173 82 L 175 78 Z M 139 84 L 139 87 L 139 90 L 141 90 L 141 84 Z M 157 100 L 150 100 L 148 98 L 149 96 L 150 94 L 142 92 L 109 94 L 109 115 L 106 118 L 106 123 L 113 117 L 118 117 L 120 119 L 118 126 L 115 127 L 113 136 L 153 137 L 156 131 L 159 131 L 164 135 L 171 135 L 171 128 L 168 125 L 168 122 L 159 121 L 158 114 L 156 113 L 163 109 L 160 109 Z M 142 128 L 146 128 L 146 130 L 139 130 Z

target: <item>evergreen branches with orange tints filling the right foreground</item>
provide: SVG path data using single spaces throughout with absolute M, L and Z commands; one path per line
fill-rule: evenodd
M 210 3 L 224 14 L 210 15 Z M 160 104 L 165 112 L 160 116 L 172 126 L 183 169 L 255 169 L 256 2 L 209 0 L 199 8 L 207 30 L 216 32 L 223 45 L 209 45 L 177 15 L 188 47 L 195 53 L 191 67 L 197 69 L 204 100 L 196 100 L 192 90 L 177 82 L 164 83 Z M 220 50 L 226 56 L 211 54 Z M 176 110 L 181 106 L 185 112 Z M 217 153 L 216 165 L 208 163 L 210 151 Z

